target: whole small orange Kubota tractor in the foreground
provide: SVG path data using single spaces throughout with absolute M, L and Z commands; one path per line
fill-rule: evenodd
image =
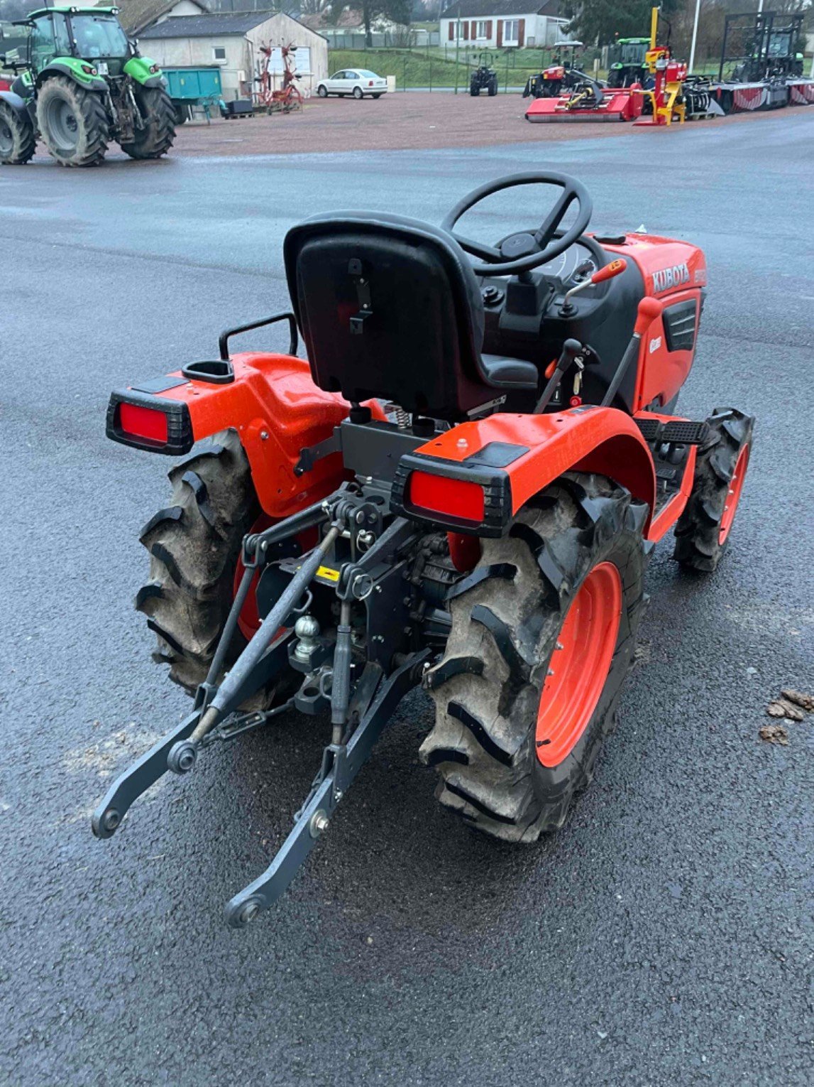
M 532 184 L 562 190 L 542 226 L 494 246 L 456 228 Z M 615 724 L 654 544 L 674 528 L 675 558 L 704 572 L 728 547 L 753 420 L 675 414 L 703 253 L 586 234 L 590 214 L 577 180 L 524 173 L 441 228 L 318 215 L 285 237 L 292 312 L 112 395 L 114 441 L 190 454 L 143 528 L 136 604 L 194 702 L 111 786 L 93 833 L 215 745 L 294 710 L 330 716 L 313 788 L 230 925 L 283 894 L 419 684 L 441 803 L 505 841 L 560 827 Z M 288 354 L 230 353 L 280 321 Z

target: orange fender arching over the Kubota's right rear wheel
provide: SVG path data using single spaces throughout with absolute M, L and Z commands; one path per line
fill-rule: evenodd
M 656 502 L 656 470 L 650 449 L 634 420 L 616 408 L 583 405 L 544 415 L 497 413 L 461 423 L 419 447 L 459 479 L 466 471 L 508 477 L 512 515 L 564 472 L 610 476 L 647 502 L 649 527 Z M 427 472 L 438 468 L 428 463 Z M 501 483 L 505 484 L 505 479 Z

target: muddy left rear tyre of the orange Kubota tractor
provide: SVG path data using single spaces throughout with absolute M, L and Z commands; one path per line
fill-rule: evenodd
M 148 521 L 141 542 L 150 577 L 136 607 L 157 638 L 156 663 L 190 694 L 206 678 L 234 598 L 241 541 L 260 514 L 245 453 L 234 430 L 216 435 L 169 472 L 169 505 Z M 245 645 L 236 632 L 227 667 Z

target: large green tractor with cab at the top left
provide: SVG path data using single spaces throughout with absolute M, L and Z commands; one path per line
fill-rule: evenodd
M 42 8 L 14 25 L 25 59 L 0 54 L 15 78 L 0 90 L 0 163 L 33 158 L 36 140 L 63 166 L 97 166 L 110 140 L 132 159 L 158 159 L 175 139 L 161 68 L 142 57 L 117 8 Z

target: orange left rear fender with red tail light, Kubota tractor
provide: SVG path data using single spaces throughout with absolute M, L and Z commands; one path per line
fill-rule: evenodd
M 249 459 L 260 505 L 271 517 L 289 516 L 334 490 L 345 478 L 341 453 L 316 460 L 302 476 L 294 466 L 303 449 L 331 437 L 351 409 L 347 401 L 318 388 L 308 363 L 294 355 L 245 352 L 233 354 L 231 363 L 234 379 L 226 384 L 188 380 L 176 371 L 117 390 L 107 407 L 107 437 L 177 457 L 232 428 Z M 133 413 L 125 405 L 143 414 L 128 423 Z M 384 417 L 377 404 L 370 407 Z M 154 437 L 162 433 L 154 429 L 158 412 L 166 416 L 166 440 Z

